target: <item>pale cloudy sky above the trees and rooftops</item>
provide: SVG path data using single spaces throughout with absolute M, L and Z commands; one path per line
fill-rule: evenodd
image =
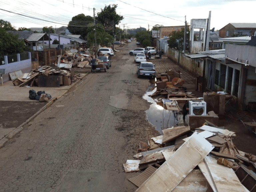
M 105 5 L 117 5 L 116 12 L 124 19 L 116 27 L 122 29 L 125 26 L 151 30 L 156 24 L 181 26 L 185 24 L 185 16 L 190 23 L 191 19 L 207 19 L 209 11 L 210 29 L 219 30 L 228 23 L 256 23 L 256 1 L 252 0 L 0 0 L 0 4 L 0 19 L 9 21 L 16 29 L 67 26 L 72 17 L 80 13 L 93 17 L 93 8 L 97 14 Z

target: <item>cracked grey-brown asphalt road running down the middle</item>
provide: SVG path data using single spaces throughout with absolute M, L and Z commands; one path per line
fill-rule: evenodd
M 150 81 L 137 78 L 133 48 L 117 48 L 107 73 L 88 74 L 0 149 L 0 192 L 137 189 L 127 178 L 139 173 L 124 173 L 123 164 L 159 133 L 141 110 Z M 125 105 L 109 105 L 120 94 Z

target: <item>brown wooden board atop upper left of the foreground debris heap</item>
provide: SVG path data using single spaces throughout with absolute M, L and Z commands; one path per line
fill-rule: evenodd
M 169 129 L 163 129 L 164 137 L 162 143 L 166 143 L 173 139 L 176 139 L 182 136 L 187 131 L 190 131 L 190 126 L 181 126 L 181 127 L 174 127 Z

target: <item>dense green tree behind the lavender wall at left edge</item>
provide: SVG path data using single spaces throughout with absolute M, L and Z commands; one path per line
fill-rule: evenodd
M 25 42 L 18 38 L 19 35 L 8 33 L 3 27 L 0 27 L 0 57 L 22 53 L 26 47 Z

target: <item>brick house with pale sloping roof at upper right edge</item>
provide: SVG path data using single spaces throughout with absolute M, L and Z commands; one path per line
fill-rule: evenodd
M 232 37 L 234 35 L 242 36 L 255 33 L 256 23 L 229 23 L 219 30 L 221 38 Z

